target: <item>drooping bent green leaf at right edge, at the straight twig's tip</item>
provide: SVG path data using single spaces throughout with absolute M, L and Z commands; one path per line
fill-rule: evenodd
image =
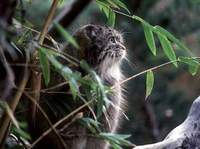
M 189 72 L 194 76 L 197 74 L 200 63 L 192 57 L 179 57 L 178 60 L 182 63 L 188 64 Z

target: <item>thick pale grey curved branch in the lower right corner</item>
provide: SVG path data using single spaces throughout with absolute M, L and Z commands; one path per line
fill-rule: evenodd
M 195 149 L 200 146 L 200 96 L 193 102 L 185 121 L 158 143 L 136 146 L 134 149 Z

